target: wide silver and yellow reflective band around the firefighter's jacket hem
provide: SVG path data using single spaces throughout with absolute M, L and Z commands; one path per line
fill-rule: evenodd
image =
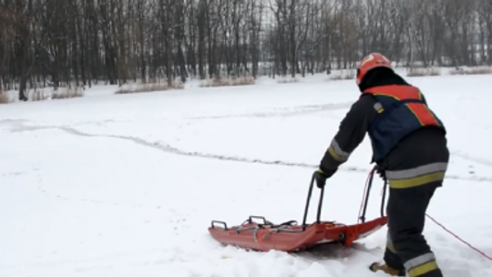
M 413 188 L 444 180 L 447 162 L 436 162 L 414 169 L 386 170 L 386 178 L 393 189 Z

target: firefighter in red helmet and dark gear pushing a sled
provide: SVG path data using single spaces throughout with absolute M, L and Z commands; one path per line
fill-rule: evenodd
M 357 69 L 362 95 L 343 118 L 314 172 L 322 188 L 364 140 L 371 139 L 377 172 L 389 185 L 384 264 L 371 270 L 392 276 L 442 277 L 425 241 L 425 210 L 442 186 L 449 150 L 446 128 L 428 107 L 422 92 L 398 76 L 379 53 L 366 56 Z

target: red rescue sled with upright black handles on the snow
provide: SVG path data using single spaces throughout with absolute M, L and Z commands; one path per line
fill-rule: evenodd
M 314 176 L 311 180 L 302 224 L 297 221 L 287 221 L 273 224 L 264 217 L 250 216 L 239 226 L 228 227 L 224 221 L 211 221 L 210 235 L 223 244 L 255 251 L 301 251 L 320 243 L 336 242 L 350 246 L 354 241 L 363 239 L 383 227 L 387 218 L 384 216 L 384 198 L 386 182 L 384 182 L 383 199 L 381 201 L 381 217 L 373 221 L 365 221 L 365 210 L 369 192 L 373 183 L 374 169 L 369 174 L 364 191 L 359 223 L 345 225 L 334 221 L 320 221 L 323 204 L 324 188 L 320 193 L 317 220 L 306 224 L 311 195 L 313 194 Z M 260 220 L 255 222 L 253 220 Z

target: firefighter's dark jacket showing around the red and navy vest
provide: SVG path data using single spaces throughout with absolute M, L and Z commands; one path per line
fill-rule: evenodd
M 410 86 L 402 77 L 386 68 L 371 70 L 359 88 L 361 92 L 371 87 Z M 374 105 L 377 99 L 363 94 L 343 118 L 340 128 L 325 152 L 320 169 L 326 172 L 337 169 L 364 140 L 378 112 Z M 373 139 L 373 138 L 371 138 Z M 395 145 L 377 164 L 388 170 L 414 169 L 416 167 L 447 162 L 449 153 L 446 147 L 446 130 L 436 127 L 418 128 L 404 138 L 395 141 Z

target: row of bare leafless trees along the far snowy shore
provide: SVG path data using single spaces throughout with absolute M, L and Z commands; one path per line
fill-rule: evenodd
M 492 65 L 490 0 L 0 0 L 0 90 Z

